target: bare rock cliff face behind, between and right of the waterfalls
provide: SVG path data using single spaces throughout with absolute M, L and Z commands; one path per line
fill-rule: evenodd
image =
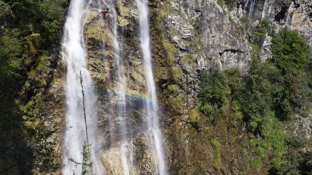
M 98 1 L 90 3 L 84 30 L 88 68 L 97 87 L 97 123 L 102 128 L 98 134 L 103 140 L 103 162 L 108 174 L 114 174 L 116 169 L 119 173 L 123 172 L 120 149 L 116 149 L 117 167 L 113 162 L 109 46 L 114 110 L 118 111 L 120 83 L 124 83 L 127 92 L 126 108 L 122 113 L 126 116 L 126 138 L 130 138 L 126 140 L 133 144 L 129 146 L 133 147 L 129 154 L 134 154 L 135 159 L 133 164 L 129 163 L 133 166 L 132 173 L 154 175 L 157 174 L 151 158 L 154 151 L 148 149 L 151 144 L 147 142 L 149 133 L 142 125 L 142 103 L 147 85 L 141 59 L 138 8 L 133 0 L 111 1 L 108 6 L 112 9 L 108 15 L 108 38 L 106 18 L 99 15 L 102 6 Z M 312 46 L 312 2 L 241 0 L 229 8 L 222 0 L 164 0 L 149 1 L 149 8 L 154 80 L 169 174 L 239 174 L 244 169 L 241 161 L 244 153 L 240 145 L 248 139 L 242 132 L 243 121 L 231 132 L 227 128 L 227 116 L 217 119 L 216 126 L 200 132 L 189 122 L 189 112 L 196 105 L 199 73 L 216 67 L 221 70 L 239 68 L 246 72 L 252 50 L 250 31 L 263 18 L 268 18 L 277 29 L 289 26 L 298 31 Z M 249 21 L 244 22 L 244 18 Z M 259 43 L 262 61 L 272 57 L 271 39 L 265 35 Z M 120 64 L 117 60 L 121 60 L 124 66 L 124 82 L 120 82 L 116 73 Z M 60 59 L 46 94 L 47 117 L 44 124 L 49 128 L 65 126 L 65 78 L 66 62 Z M 176 90 L 168 92 L 165 88 L 168 84 L 175 84 Z M 306 120 L 298 118 L 294 132 L 304 130 L 304 135 L 309 135 L 311 120 L 311 115 Z M 115 131 L 118 148 L 122 144 L 119 124 L 117 113 Z M 61 133 L 55 135 L 60 155 L 61 138 Z M 222 163 L 219 168 L 213 166 L 210 144 L 213 138 L 217 138 L 221 144 Z M 260 173 L 258 170 L 250 171 L 250 174 Z

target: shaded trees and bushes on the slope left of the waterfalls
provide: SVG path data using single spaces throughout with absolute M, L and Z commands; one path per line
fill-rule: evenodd
M 47 55 L 64 20 L 67 0 L 0 1 L 0 172 L 51 173 L 51 134 L 42 131 Z M 21 173 L 22 172 L 22 173 Z

